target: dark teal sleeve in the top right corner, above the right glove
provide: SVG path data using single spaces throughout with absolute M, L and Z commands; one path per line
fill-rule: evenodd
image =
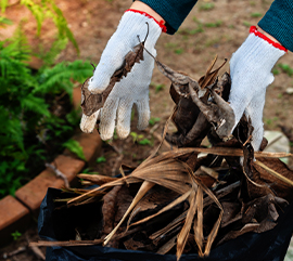
M 293 1 L 275 0 L 258 26 L 293 52 Z

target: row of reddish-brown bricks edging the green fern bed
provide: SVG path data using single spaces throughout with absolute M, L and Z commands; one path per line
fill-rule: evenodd
M 74 104 L 79 106 L 80 90 L 74 89 Z M 91 134 L 78 133 L 73 136 L 84 148 L 86 161 L 77 159 L 65 149 L 59 155 L 52 165 L 56 165 L 68 182 L 73 184 L 78 174 L 86 166 L 93 166 L 97 156 L 102 148 L 102 141 L 97 131 Z M 46 196 L 48 187 L 61 188 L 64 181 L 56 178 L 53 170 L 47 168 L 35 179 L 29 181 L 15 193 L 15 198 L 7 196 L 0 200 L 0 247 L 11 243 L 11 233 L 18 231 L 25 232 L 33 220 L 36 220 L 40 204 Z

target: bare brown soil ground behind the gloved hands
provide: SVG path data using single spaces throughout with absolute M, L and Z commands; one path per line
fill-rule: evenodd
M 17 2 L 17 1 L 11 1 Z M 208 67 L 215 55 L 218 55 L 218 64 L 225 58 L 230 58 L 232 53 L 241 45 L 249 35 L 251 25 L 256 25 L 262 16 L 269 9 L 272 0 L 262 1 L 231 1 L 231 0 L 202 0 L 193 8 L 189 16 L 181 25 L 178 32 L 174 36 L 163 34 L 157 41 L 157 58 L 176 70 L 181 70 L 194 79 L 199 79 Z M 109 38 L 115 31 L 117 24 L 124 11 L 127 10 L 130 0 L 56 0 L 58 6 L 63 11 L 69 28 L 79 45 L 80 53 L 77 54 L 72 43 L 62 51 L 58 57 L 61 61 L 85 60 L 89 63 L 98 64 L 99 58 Z M 214 8 L 205 10 L 207 4 Z M 54 25 L 46 21 L 41 29 L 41 35 L 36 36 L 37 24 L 29 11 L 20 4 L 13 4 L 8 8 L 7 16 L 14 24 L 1 29 L 0 39 L 11 37 L 14 29 L 23 21 L 23 28 L 28 36 L 29 42 L 35 51 L 41 42 L 44 50 L 50 48 L 56 34 Z M 202 29 L 201 29 L 202 28 Z M 196 30 L 198 29 L 198 30 Z M 34 60 L 31 67 L 38 68 L 41 62 Z M 281 57 L 278 64 L 293 64 L 293 55 L 289 54 Z M 275 81 L 267 89 L 266 105 L 264 110 L 264 123 L 266 130 L 279 130 L 290 139 L 293 144 L 293 94 L 290 94 L 290 88 L 293 87 L 293 79 L 283 73 L 276 65 L 279 71 L 275 75 Z M 220 74 L 229 71 L 229 64 L 225 65 Z M 136 117 L 132 121 L 131 131 L 126 140 L 113 141 L 103 144 L 101 157 L 105 162 L 97 164 L 90 171 L 97 171 L 101 174 L 115 175 L 119 172 L 120 164 L 137 166 L 145 159 L 161 142 L 162 129 L 165 121 L 171 114 L 174 103 L 169 96 L 169 80 L 165 78 L 157 68 L 154 69 L 152 84 L 150 87 L 150 106 L 152 118 L 160 118 L 155 125 L 150 126 L 144 131 L 136 129 Z M 169 128 L 169 131 L 174 127 Z M 136 142 L 135 136 L 139 136 Z M 139 142 L 148 139 L 150 144 L 141 145 Z M 114 145 L 114 146 L 113 146 Z M 164 145 L 164 148 L 168 148 Z M 292 147 L 291 147 L 291 151 Z M 103 160 L 102 160 L 103 161 Z M 30 229 L 34 236 L 36 227 Z M 29 233 L 29 232 L 27 232 Z M 0 259 L 2 252 L 11 252 L 20 246 L 26 246 L 26 234 L 20 240 L 14 242 L 8 247 L 0 249 Z M 29 237 L 34 239 L 34 237 Z M 43 250 L 43 249 L 42 249 Z M 26 255 L 26 256 L 24 256 Z M 10 260 L 37 260 L 31 250 L 22 255 L 15 255 Z

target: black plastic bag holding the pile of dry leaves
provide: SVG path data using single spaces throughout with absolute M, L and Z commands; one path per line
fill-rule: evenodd
M 54 198 L 72 196 L 60 190 L 49 188 L 40 206 L 38 220 L 39 236 L 49 240 L 66 240 L 72 236 L 72 227 L 75 223 L 86 221 L 87 224 L 97 222 L 100 216 L 99 206 L 80 206 L 68 208 L 55 216 L 56 207 Z M 99 204 L 99 203 L 98 203 Z M 88 211 L 88 212 L 87 212 Z M 289 205 L 284 213 L 277 221 L 277 225 L 265 233 L 246 233 L 235 239 L 214 248 L 207 258 L 199 258 L 198 255 L 182 255 L 180 261 L 280 261 L 284 259 L 293 232 L 293 204 Z M 82 223 L 82 222 L 81 222 Z M 64 237 L 64 235 L 66 235 Z M 102 246 L 87 247 L 48 247 L 47 261 L 176 261 L 175 255 L 156 255 L 146 251 L 132 251 Z

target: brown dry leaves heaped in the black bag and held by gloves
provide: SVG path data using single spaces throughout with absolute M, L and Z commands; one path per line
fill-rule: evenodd
M 142 55 L 143 44 L 138 50 Z M 142 58 L 135 55 L 133 61 Z M 122 167 L 122 178 L 79 174 L 87 184 L 99 186 L 72 190 L 80 195 L 66 199 L 65 205 L 75 208 L 101 201 L 99 230 L 92 238 L 76 229 L 78 240 L 50 246 L 100 244 L 162 255 L 176 252 L 179 259 L 183 252 L 208 256 L 212 248 L 244 233 L 276 226 L 293 199 L 293 172 L 279 159 L 290 155 L 262 152 L 265 139 L 260 152 L 254 152 L 253 127 L 244 116 L 233 136 L 227 138 L 234 122 L 227 103 L 231 81 L 228 73 L 218 77 L 224 64 L 213 70 L 215 63 L 216 58 L 195 81 L 156 61 L 171 80 L 176 105 L 170 119 L 177 132 L 167 133 L 167 122 L 163 135 L 173 149 L 155 152 L 135 169 Z M 90 116 L 97 112 L 91 106 L 98 103 L 87 104 L 93 96 L 85 86 L 82 90 L 84 113 Z M 99 99 L 101 107 L 105 97 Z M 201 145 L 205 138 L 212 147 Z M 206 156 L 199 157 L 203 154 Z

